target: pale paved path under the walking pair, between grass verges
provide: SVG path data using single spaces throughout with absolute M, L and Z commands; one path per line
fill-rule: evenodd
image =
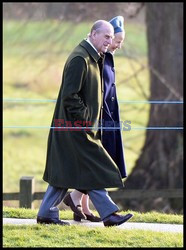
M 74 220 L 67 220 L 67 221 L 73 225 L 81 225 L 81 226 L 89 226 L 89 227 L 104 227 L 102 222 L 89 222 L 89 221 L 76 222 Z M 3 218 L 3 224 L 33 225 L 33 224 L 36 224 L 36 219 Z M 120 226 L 117 226 L 117 228 L 143 229 L 143 230 L 152 230 L 152 231 L 157 231 L 157 232 L 183 233 L 183 225 L 180 225 L 180 224 L 126 222 Z

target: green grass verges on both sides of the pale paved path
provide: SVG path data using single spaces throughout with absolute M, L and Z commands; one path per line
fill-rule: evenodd
M 3 217 L 36 218 L 37 209 L 3 207 Z M 131 222 L 183 224 L 183 216 L 157 212 L 132 212 Z M 96 214 L 96 212 L 94 211 Z M 60 211 L 61 219 L 72 220 L 72 211 Z M 183 234 L 117 227 L 87 228 L 71 225 L 4 225 L 4 247 L 183 247 Z

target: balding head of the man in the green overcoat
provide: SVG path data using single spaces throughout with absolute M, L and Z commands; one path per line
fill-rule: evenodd
M 97 49 L 98 53 L 105 53 L 114 37 L 113 26 L 105 21 L 96 21 L 90 31 L 89 40 Z

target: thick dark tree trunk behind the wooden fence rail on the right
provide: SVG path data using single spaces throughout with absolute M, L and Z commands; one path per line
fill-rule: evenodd
M 183 3 L 147 3 L 150 100 L 182 100 Z M 182 127 L 182 104 L 152 104 L 148 127 Z M 146 130 L 146 140 L 126 189 L 183 188 L 183 130 Z M 182 200 L 133 200 L 127 208 L 182 212 Z

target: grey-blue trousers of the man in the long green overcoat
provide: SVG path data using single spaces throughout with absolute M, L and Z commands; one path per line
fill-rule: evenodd
M 48 185 L 38 216 L 59 219 L 59 208 L 57 206 L 65 197 L 67 190 L 68 189 L 65 188 L 56 188 Z M 102 220 L 119 210 L 105 189 L 87 191 L 87 194 Z

